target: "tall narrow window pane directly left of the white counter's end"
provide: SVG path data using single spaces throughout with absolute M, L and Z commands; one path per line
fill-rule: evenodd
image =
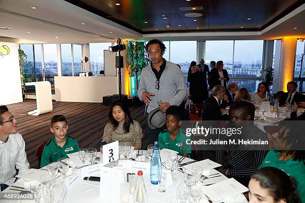
M 58 73 L 56 44 L 43 44 L 43 59 L 45 80 L 54 84 L 54 76 Z

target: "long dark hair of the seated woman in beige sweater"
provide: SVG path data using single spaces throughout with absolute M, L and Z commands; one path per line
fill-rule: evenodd
M 134 121 L 130 116 L 130 111 L 128 109 L 127 104 L 125 102 L 123 102 L 123 100 L 115 100 L 111 103 L 111 107 L 110 107 L 108 117 L 111 121 L 111 124 L 113 124 L 113 129 L 116 130 L 119 126 L 119 122 L 113 117 L 113 114 L 112 114 L 112 109 L 113 109 L 114 106 L 120 106 L 123 109 L 123 111 L 125 113 L 125 123 L 123 125 L 123 129 L 124 129 L 125 133 L 128 133 L 130 124 L 131 123 L 134 124 Z

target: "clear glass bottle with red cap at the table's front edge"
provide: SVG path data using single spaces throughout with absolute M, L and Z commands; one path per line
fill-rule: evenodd
M 148 203 L 148 196 L 143 180 L 143 172 L 138 171 L 138 179 L 136 184 L 136 190 L 133 196 L 134 203 Z

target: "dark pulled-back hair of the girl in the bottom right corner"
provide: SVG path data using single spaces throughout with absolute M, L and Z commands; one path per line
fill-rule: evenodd
M 296 181 L 280 169 L 262 168 L 255 172 L 251 179 L 258 181 L 262 188 L 267 189 L 275 202 L 284 199 L 287 203 L 302 203 L 299 199 Z

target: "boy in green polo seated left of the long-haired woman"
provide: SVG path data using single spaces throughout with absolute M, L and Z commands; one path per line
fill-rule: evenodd
M 65 116 L 54 115 L 52 117 L 50 131 L 54 135 L 43 148 L 40 167 L 56 162 L 60 158 L 67 158 L 67 154 L 79 151 L 76 139 L 66 136 L 68 127 Z

